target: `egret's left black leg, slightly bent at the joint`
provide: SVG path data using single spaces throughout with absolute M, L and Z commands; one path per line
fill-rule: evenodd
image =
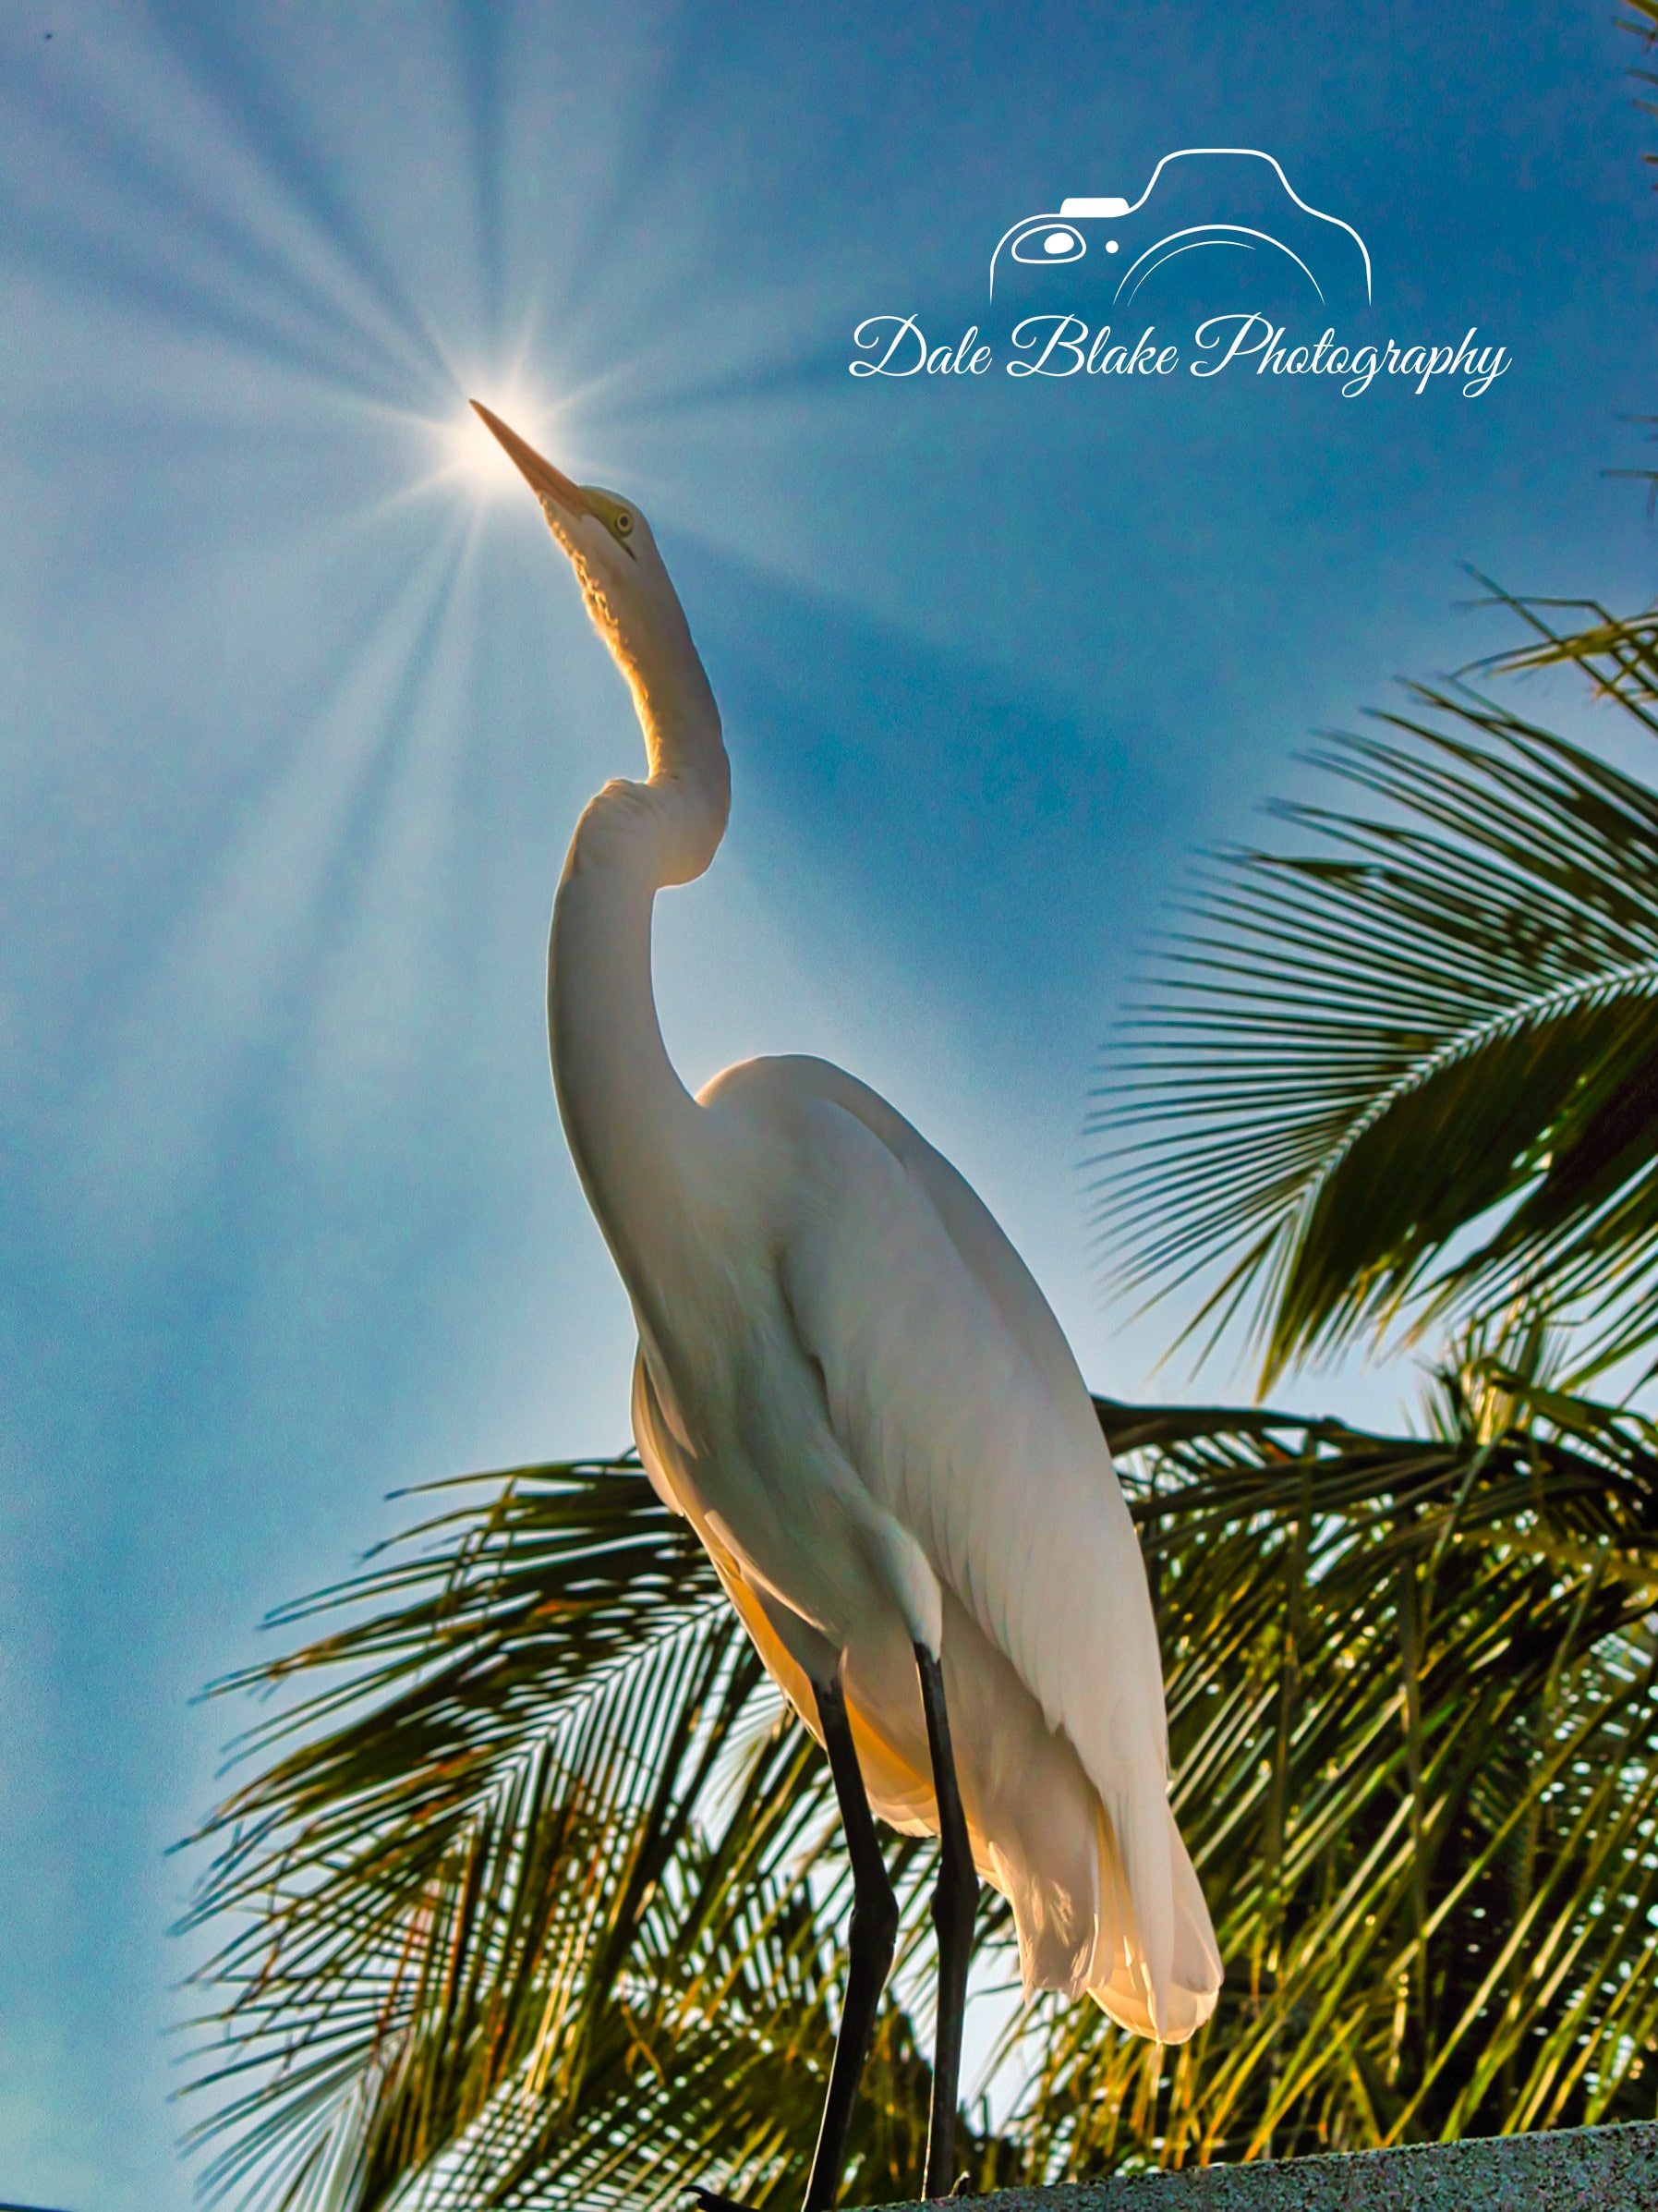
M 836 2037 L 836 2059 L 829 2068 L 829 2095 L 822 2101 L 822 2124 L 818 2128 L 818 2150 L 811 2159 L 807 2201 L 802 2212 L 829 2212 L 840 2188 L 840 2166 L 847 2150 L 847 2124 L 851 2101 L 858 2095 L 858 2075 L 864 2070 L 869 2037 L 875 2028 L 880 1993 L 893 1964 L 893 1938 L 898 1936 L 898 1898 L 886 1880 L 886 1860 L 880 1856 L 875 1816 L 869 1809 L 864 1776 L 858 1770 L 858 1750 L 847 1721 L 847 1692 L 840 1677 L 814 1683 L 818 1697 L 818 1721 L 822 1743 L 829 1752 L 829 1772 L 836 1778 L 840 1823 L 847 1829 L 847 1856 L 851 1858 L 851 1931 L 847 1966 L 847 1997 L 840 2006 L 840 2035 Z M 741 2212 L 725 2197 L 694 2190 L 703 2212 Z

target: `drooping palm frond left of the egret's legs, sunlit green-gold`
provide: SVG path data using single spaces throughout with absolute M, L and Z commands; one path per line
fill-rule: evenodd
M 816 1745 L 637 1464 L 473 1478 L 411 1537 L 279 1621 L 347 1626 L 221 1686 L 323 1683 L 243 1741 L 270 1763 L 197 1838 L 188 1924 L 232 1927 L 197 1975 L 206 2188 L 285 2212 L 787 2192 L 849 1907 Z M 889 2008 L 871 2197 L 920 2179 L 926 2097 Z

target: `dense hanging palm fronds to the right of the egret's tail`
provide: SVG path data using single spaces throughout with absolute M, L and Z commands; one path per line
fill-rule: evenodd
M 1534 1398 L 1475 1347 L 1421 1438 L 1108 1409 L 1227 1984 L 1178 2053 L 1015 2022 L 1032 2174 L 1651 2117 L 1658 1455 Z

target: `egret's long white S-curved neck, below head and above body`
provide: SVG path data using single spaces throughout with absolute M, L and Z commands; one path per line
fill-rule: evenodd
M 548 1042 L 577 1172 L 634 1303 L 650 1303 L 699 1190 L 707 1117 L 657 1022 L 650 918 L 657 891 L 714 858 L 730 810 L 718 708 L 679 604 L 643 641 L 595 608 L 628 677 L 648 783 L 606 783 L 564 863 L 548 953 Z

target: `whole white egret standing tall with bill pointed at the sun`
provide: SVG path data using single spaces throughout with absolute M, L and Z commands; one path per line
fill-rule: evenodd
M 893 1958 L 871 1807 L 942 1840 L 942 2197 L 975 1869 L 1012 1902 L 1026 1989 L 1088 1991 L 1161 2042 L 1216 2004 L 1145 1566 L 1070 1345 L 955 1168 L 822 1060 L 752 1060 L 699 1097 L 674 1073 L 652 902 L 725 834 L 718 708 L 639 509 L 478 414 L 575 566 L 650 761 L 588 803 L 548 953 L 559 1113 L 639 1321 L 639 1455 L 822 1741 L 847 1829 L 851 1966 L 805 2205 L 836 2199 Z

